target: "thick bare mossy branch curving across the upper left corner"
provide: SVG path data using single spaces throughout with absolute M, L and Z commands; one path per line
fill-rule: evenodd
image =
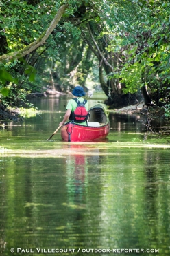
M 38 39 L 36 39 L 36 41 L 34 41 L 33 43 L 30 43 L 29 45 L 27 45 L 26 47 L 24 47 L 23 49 L 17 52 L 10 52 L 9 54 L 3 54 L 2 56 L 0 56 L 0 62 L 3 62 L 3 61 L 8 62 L 14 58 L 22 58 L 23 56 L 36 50 L 40 45 L 45 43 L 45 41 L 47 40 L 51 32 L 53 32 L 53 30 L 56 28 L 56 25 L 58 25 L 58 22 L 60 21 L 62 14 L 64 14 L 66 8 L 68 8 L 67 4 L 60 6 L 56 14 L 56 17 L 54 17 L 53 21 L 49 25 L 49 28 L 47 28 L 47 30 L 45 30 L 45 32 L 43 32 L 42 35 Z

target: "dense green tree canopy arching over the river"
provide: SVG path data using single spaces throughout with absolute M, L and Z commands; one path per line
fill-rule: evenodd
M 148 105 L 169 103 L 169 1 L 11 0 L 0 8 L 3 103 L 50 81 L 85 87 L 89 74 L 114 107 L 140 92 Z

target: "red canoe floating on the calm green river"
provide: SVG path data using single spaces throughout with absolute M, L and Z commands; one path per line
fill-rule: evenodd
M 109 133 L 109 120 L 106 110 L 97 104 L 90 108 L 88 126 L 67 122 L 62 126 L 62 140 L 66 142 L 81 142 L 103 140 Z

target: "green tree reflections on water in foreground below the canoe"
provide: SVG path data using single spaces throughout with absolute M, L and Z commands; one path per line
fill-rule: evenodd
M 6 248 L 168 246 L 169 150 L 64 147 L 61 158 L 5 158 Z

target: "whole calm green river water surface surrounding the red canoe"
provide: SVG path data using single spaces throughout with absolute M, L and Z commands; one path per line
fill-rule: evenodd
M 33 101 L 0 130 L 0 255 L 170 255 L 170 146 L 121 114 L 103 142 L 48 142 L 66 99 Z

